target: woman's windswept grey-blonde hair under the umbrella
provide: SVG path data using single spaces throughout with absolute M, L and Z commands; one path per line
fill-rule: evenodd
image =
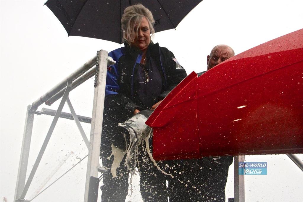
M 151 14 L 151 11 L 148 10 L 142 4 L 136 4 L 136 5 L 128 6 L 127 8 L 124 9 L 124 13 L 121 18 L 123 42 L 126 41 L 129 44 L 132 44 L 135 41 L 136 34 L 134 32 L 134 26 L 141 25 L 143 17 L 147 19 L 151 37 L 153 37 L 155 33 L 155 29 L 154 29 L 155 20 Z M 139 27 L 137 27 L 136 32 L 138 32 L 138 29 Z

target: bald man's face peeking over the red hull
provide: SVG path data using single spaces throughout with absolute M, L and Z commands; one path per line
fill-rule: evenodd
M 233 56 L 232 50 L 229 47 L 219 46 L 214 48 L 210 55 L 207 56 L 207 70 L 215 67 L 221 62 Z

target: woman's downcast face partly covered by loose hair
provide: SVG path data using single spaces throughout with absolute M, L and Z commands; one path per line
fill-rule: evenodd
M 134 31 L 136 32 L 138 25 L 135 25 Z M 134 45 L 140 48 L 142 51 L 146 50 L 151 42 L 151 32 L 149 29 L 148 21 L 143 17 L 138 33 L 135 35 Z

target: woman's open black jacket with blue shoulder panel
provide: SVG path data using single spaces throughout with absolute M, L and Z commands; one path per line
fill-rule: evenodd
M 161 94 L 158 101 L 165 96 L 186 76 L 184 68 L 175 59 L 174 54 L 167 48 L 157 44 L 150 44 L 148 51 L 155 61 L 162 79 Z M 116 61 L 115 65 L 108 67 L 105 89 L 104 118 L 102 127 L 101 151 L 102 156 L 109 155 L 112 127 L 119 122 L 126 121 L 132 117 L 135 109 L 142 108 L 134 96 L 135 68 L 140 63 L 142 51 L 125 43 L 125 47 L 111 51 L 108 56 Z M 156 102 L 155 102 L 156 103 Z M 109 149 L 107 149 L 109 148 Z M 104 152 L 104 150 L 108 150 Z

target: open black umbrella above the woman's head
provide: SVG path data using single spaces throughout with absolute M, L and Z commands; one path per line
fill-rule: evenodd
M 121 17 L 129 5 L 142 3 L 155 19 L 155 31 L 176 28 L 202 0 L 48 0 L 45 5 L 69 36 L 122 43 Z

